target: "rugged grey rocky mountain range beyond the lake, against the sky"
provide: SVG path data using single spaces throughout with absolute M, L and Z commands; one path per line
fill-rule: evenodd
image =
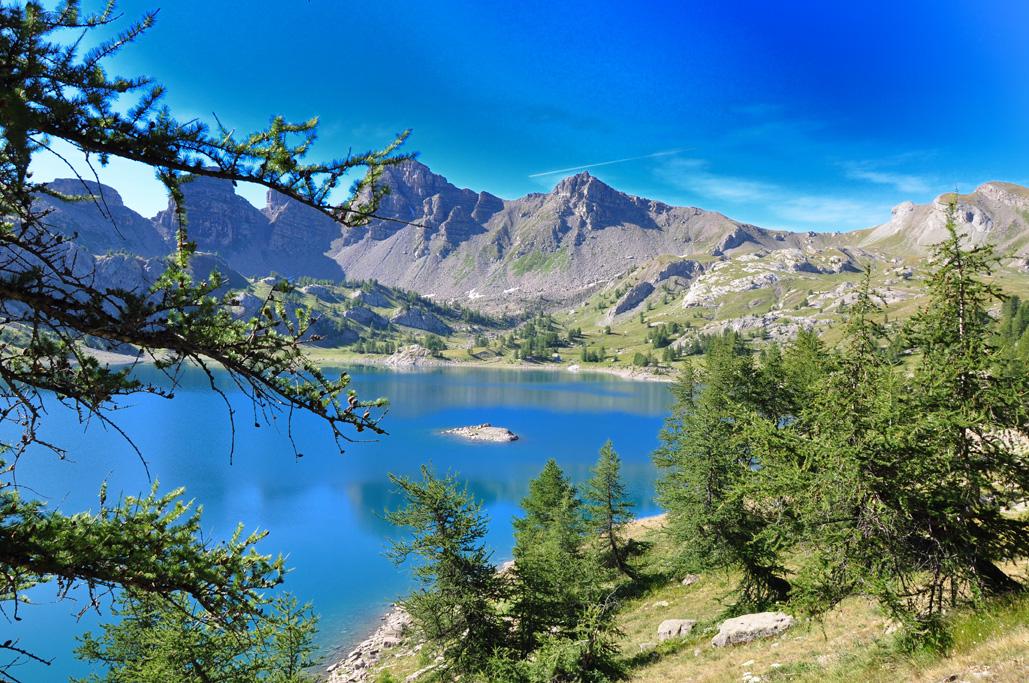
M 390 167 L 385 182 L 391 192 L 379 215 L 404 222 L 372 220 L 342 228 L 277 192 L 269 191 L 264 208 L 257 209 L 230 182 L 196 178 L 184 185 L 189 237 L 208 254 L 211 267 L 229 271 L 236 283 L 271 274 L 374 279 L 439 301 L 509 312 L 540 302 L 555 309 L 574 304 L 648 268 L 679 268 L 679 277 L 688 279 L 745 255 L 785 258 L 793 271 L 826 275 L 917 261 L 944 237 L 951 202 L 971 243 L 991 242 L 1010 257 L 1012 267 L 1029 267 L 1029 189 L 1004 182 L 985 183 L 968 194 L 942 194 L 924 205 L 906 202 L 886 222 L 847 232 L 767 229 L 627 194 L 589 173 L 565 178 L 549 192 L 514 200 L 459 188 L 418 161 Z M 113 188 L 86 185 L 101 202 L 40 197 L 51 210 L 50 225 L 74 233 L 108 269 L 114 254 L 121 261 L 152 260 L 171 252 L 171 208 L 145 218 L 126 207 Z M 77 180 L 56 180 L 52 186 L 82 192 Z

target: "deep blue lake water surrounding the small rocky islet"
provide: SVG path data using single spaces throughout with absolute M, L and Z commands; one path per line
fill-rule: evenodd
M 248 530 L 271 531 L 260 549 L 287 555 L 292 572 L 286 589 L 314 603 L 326 656 L 366 635 L 410 586 L 406 572 L 383 555 L 395 533 L 383 512 L 399 502 L 388 472 L 414 475 L 430 463 L 438 473 L 460 474 L 486 503 L 497 561 L 509 556 L 511 517 L 543 463 L 555 458 L 574 481 L 582 481 L 608 438 L 623 458 L 638 514 L 658 511 L 649 454 L 671 407 L 668 385 L 478 368 L 361 368 L 352 376 L 362 398 L 389 398 L 383 422 L 389 435 L 351 444 L 344 455 L 324 425 L 298 416 L 293 433 L 305 457 L 294 459 L 285 426 L 255 429 L 246 417 L 249 404 L 233 395 L 240 418 L 229 464 L 224 404 L 199 373 L 187 375 L 174 399 L 132 397 L 114 416 L 140 446 L 162 490 L 186 487 L 187 496 L 203 504 L 209 538 L 227 536 L 239 522 Z M 473 443 L 438 433 L 483 422 L 508 427 L 521 439 Z M 138 458 L 112 431 L 83 428 L 70 411 L 55 409 L 44 437 L 68 447 L 72 462 L 37 452 L 22 461 L 17 474 L 51 507 L 69 512 L 96 507 L 105 479 L 109 499 L 149 487 Z M 47 588 L 30 597 L 34 604 L 21 608 L 22 621 L 0 615 L 0 638 L 13 638 L 54 662 L 26 664 L 15 675 L 23 681 L 62 681 L 87 673 L 72 655 L 75 637 L 102 617 L 91 611 L 76 618 L 82 604 L 56 602 Z

